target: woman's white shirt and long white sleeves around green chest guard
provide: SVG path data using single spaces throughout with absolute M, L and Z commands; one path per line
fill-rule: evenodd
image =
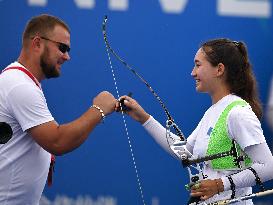
M 205 112 L 198 126 L 187 139 L 187 148 L 194 157 L 204 157 L 206 155 L 210 133 L 219 116 L 230 103 L 240 99 L 232 94 L 227 95 Z M 166 140 L 166 130 L 159 122 L 150 117 L 143 126 L 158 144 L 173 154 Z M 256 170 L 262 181 L 272 179 L 273 157 L 266 144 L 260 121 L 251 110 L 251 107 L 234 107 L 229 112 L 227 127 L 230 137 L 235 139 L 252 159 L 252 168 Z M 174 134 L 172 134 L 172 137 L 178 138 Z M 216 171 L 211 168 L 209 163 L 206 163 L 203 167 L 203 173 L 208 176 L 208 179 L 221 178 L 225 189 L 219 195 L 217 194 L 206 200 L 207 203 L 230 198 L 230 183 L 226 176 L 234 173 L 234 171 Z M 255 176 L 250 170 L 245 170 L 240 174 L 236 174 L 236 176 L 234 175 L 233 181 L 236 185 L 236 197 L 243 196 L 252 192 L 251 186 L 255 185 Z M 253 203 L 248 200 L 237 204 L 250 205 Z

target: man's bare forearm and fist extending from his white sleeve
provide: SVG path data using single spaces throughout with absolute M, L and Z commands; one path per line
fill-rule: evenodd
M 93 104 L 100 107 L 105 115 L 114 111 L 115 103 L 115 98 L 108 92 L 100 93 L 93 100 Z M 62 155 L 79 147 L 101 120 L 99 109 L 92 107 L 70 123 L 58 125 L 55 121 L 50 121 L 32 127 L 28 132 L 45 150 Z

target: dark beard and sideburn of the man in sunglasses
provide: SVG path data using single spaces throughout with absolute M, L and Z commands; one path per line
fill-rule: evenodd
M 49 64 L 49 55 L 48 48 L 45 48 L 43 54 L 40 57 L 40 66 L 45 77 L 48 78 L 57 78 L 60 76 L 60 73 L 56 69 L 56 67 L 52 64 Z

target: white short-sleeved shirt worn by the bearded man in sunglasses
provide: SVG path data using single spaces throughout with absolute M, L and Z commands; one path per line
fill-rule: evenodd
M 8 67 L 23 67 L 15 62 Z M 42 90 L 20 70 L 0 75 L 0 122 L 8 123 L 12 138 L 0 145 L 0 204 L 38 205 L 44 189 L 50 153 L 27 130 L 54 120 Z

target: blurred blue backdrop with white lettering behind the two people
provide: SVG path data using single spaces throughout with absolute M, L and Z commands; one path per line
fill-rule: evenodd
M 211 105 L 195 92 L 190 73 L 200 44 L 226 37 L 244 41 L 267 108 L 273 70 L 272 0 L 0 0 L 0 69 L 15 61 L 26 22 L 49 13 L 71 28 L 71 60 L 62 76 L 43 82 L 53 116 L 59 123 L 79 117 L 98 92 L 116 97 L 102 35 L 104 15 L 113 49 L 158 93 L 188 136 Z M 112 56 L 120 95 L 133 97 L 159 122 L 166 116 L 147 87 Z M 272 91 L 273 92 L 273 91 Z M 266 114 L 266 113 L 265 113 Z M 273 118 L 273 116 L 272 116 Z M 162 150 L 142 126 L 128 117 L 130 143 L 143 191 L 140 193 L 122 116 L 107 117 L 77 150 L 57 157 L 53 186 L 41 205 L 181 205 L 189 181 L 180 162 Z M 272 134 L 262 127 L 272 150 Z M 266 184 L 272 188 L 273 183 Z M 272 204 L 272 196 L 255 200 Z

